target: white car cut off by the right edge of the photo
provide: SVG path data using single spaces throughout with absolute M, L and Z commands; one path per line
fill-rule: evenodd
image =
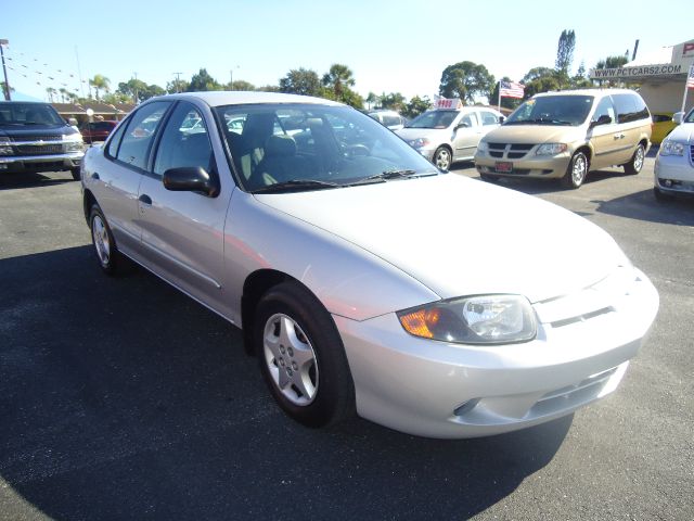
M 694 194 L 694 110 L 686 116 L 674 114 L 678 127 L 665 138 L 655 157 L 656 199 L 666 200 L 674 194 Z

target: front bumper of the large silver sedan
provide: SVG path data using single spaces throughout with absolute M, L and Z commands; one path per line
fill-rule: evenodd
M 594 288 L 534 305 L 538 336 L 523 344 L 423 340 L 407 334 L 395 314 L 334 317 L 359 415 L 416 435 L 475 437 L 542 423 L 609 394 L 658 308 L 651 281 L 629 269 L 632 282 L 608 305 Z

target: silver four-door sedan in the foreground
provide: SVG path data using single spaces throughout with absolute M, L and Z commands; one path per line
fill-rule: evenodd
M 204 131 L 181 129 L 190 117 Z M 617 387 L 658 307 L 588 220 L 441 173 L 317 98 L 147 100 L 88 150 L 82 193 L 103 271 L 130 257 L 241 327 L 274 399 L 311 427 L 356 411 L 466 437 L 570 414 Z

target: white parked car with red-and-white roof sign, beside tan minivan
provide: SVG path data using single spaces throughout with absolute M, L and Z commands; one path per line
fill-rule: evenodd
M 483 136 L 497 128 L 503 115 L 480 106 L 426 111 L 397 134 L 442 170 L 455 161 L 472 160 Z

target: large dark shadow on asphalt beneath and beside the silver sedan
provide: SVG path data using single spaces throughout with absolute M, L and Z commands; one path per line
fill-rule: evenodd
M 359 418 L 306 429 L 234 327 L 145 270 L 106 277 L 80 246 L 0 274 L 0 510 L 16 518 L 465 519 L 571 424 L 462 441 Z

